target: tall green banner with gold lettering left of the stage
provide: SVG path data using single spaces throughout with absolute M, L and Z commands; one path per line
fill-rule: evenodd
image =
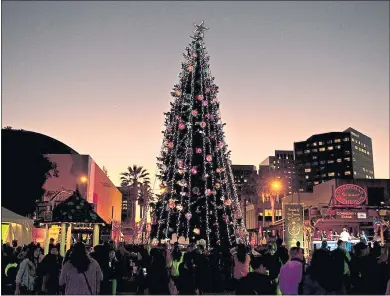
M 288 249 L 295 247 L 297 241 L 303 247 L 303 205 L 302 204 L 285 204 L 284 205 L 284 241 Z

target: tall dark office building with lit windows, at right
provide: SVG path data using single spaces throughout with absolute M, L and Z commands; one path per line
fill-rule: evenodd
M 312 191 L 313 186 L 334 178 L 374 178 L 371 138 L 353 128 L 296 142 L 294 154 L 300 191 Z

